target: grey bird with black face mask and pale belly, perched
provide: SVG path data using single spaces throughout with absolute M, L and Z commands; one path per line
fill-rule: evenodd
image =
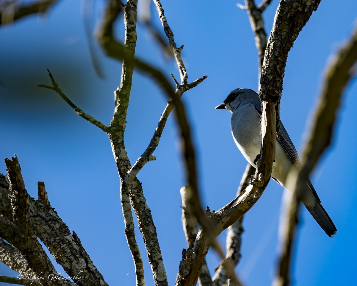
M 231 131 L 233 139 L 243 156 L 256 168 L 262 140 L 260 134 L 262 111 L 258 94 L 252 89 L 237 88 L 216 109 L 227 109 L 232 113 Z M 297 168 L 301 167 L 294 144 L 291 142 L 284 125 L 280 122 L 280 138 L 276 142 L 271 177 L 286 188 L 287 176 L 293 164 Z M 310 179 L 306 181 L 306 190 L 303 190 L 301 201 L 327 235 L 330 237 L 335 235 L 336 227 L 321 206 L 321 201 Z

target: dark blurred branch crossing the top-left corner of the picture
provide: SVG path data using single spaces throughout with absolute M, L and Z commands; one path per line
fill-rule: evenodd
M 2 1 L 0 4 L 0 25 L 9 25 L 12 22 L 31 14 L 43 14 L 59 0 L 40 0 L 38 2 L 24 4 L 19 1 Z

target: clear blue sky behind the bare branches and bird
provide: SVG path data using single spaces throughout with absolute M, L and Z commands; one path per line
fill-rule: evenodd
M 257 51 L 246 11 L 236 1 L 207 5 L 206 1 L 162 1 L 189 81 L 208 78 L 183 96 L 198 154 L 203 206 L 219 209 L 236 194 L 246 161 L 230 133 L 230 113 L 215 110 L 237 88 L 257 90 Z M 243 1 L 241 1 L 243 3 Z M 95 2 L 91 25 L 102 10 Z M 270 32 L 278 1 L 264 17 Z M 347 7 L 347 8 L 346 8 Z M 290 51 L 281 100 L 281 119 L 298 151 L 305 142 L 323 82 L 323 71 L 356 25 L 357 4 L 322 1 Z M 157 12 L 151 9 L 160 28 Z M 122 39 L 124 24 L 116 25 Z M 106 58 L 96 47 L 105 78 L 96 76 L 85 36 L 80 1 L 60 1 L 50 13 L 0 28 L 0 157 L 17 154 L 26 188 L 37 197 L 37 181 L 44 181 L 52 207 L 83 246 L 109 285 L 135 285 L 135 272 L 124 235 L 120 181 L 109 139 L 80 118 L 51 90 L 47 68 L 62 91 L 86 113 L 109 124 L 114 90 L 120 85 L 121 64 Z M 176 63 L 138 25 L 136 55 L 179 78 Z M 293 285 L 352 285 L 355 283 L 357 246 L 357 158 L 354 101 L 356 80 L 346 88 L 331 147 L 311 179 L 338 233 L 331 239 L 305 208 L 295 247 Z M 166 98 L 135 73 L 127 117 L 125 143 L 132 164 L 145 150 Z M 181 226 L 179 190 L 185 184 L 180 144 L 174 117 L 168 120 L 159 147 L 139 173 L 147 203 L 156 223 L 169 283 L 175 282 L 181 251 L 186 247 Z M 6 167 L 0 161 L 0 172 Z M 277 229 L 283 189 L 270 182 L 244 220 L 242 260 L 237 274 L 245 285 L 268 285 L 275 274 Z M 154 285 L 142 237 L 136 236 L 145 263 L 147 285 Z M 219 237 L 225 245 L 225 232 Z M 211 273 L 218 265 L 208 253 Z M 58 268 L 59 271 L 60 268 Z M 16 276 L 0 265 L 0 275 Z

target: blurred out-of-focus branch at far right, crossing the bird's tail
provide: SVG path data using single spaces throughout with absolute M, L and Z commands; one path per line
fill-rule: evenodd
M 350 81 L 353 71 L 351 68 L 357 62 L 357 28 L 350 40 L 340 49 L 326 70 L 325 83 L 316 109 L 315 117 L 302 155 L 302 166 L 295 170 L 291 185 L 292 196 L 287 206 L 286 225 L 281 241 L 280 258 L 277 266 L 277 274 L 273 285 L 286 286 L 290 284 L 290 267 L 292 261 L 292 248 L 295 243 L 295 232 L 300 206 L 301 182 L 312 172 L 321 155 L 331 143 L 336 113 L 340 107 L 343 91 Z

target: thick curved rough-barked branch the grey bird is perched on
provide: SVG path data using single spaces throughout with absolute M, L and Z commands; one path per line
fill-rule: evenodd
M 255 177 L 251 180 L 252 184 L 237 199 L 214 214 L 215 218 L 211 219 L 211 221 L 215 221 L 215 225 L 210 227 L 208 234 L 202 229 L 198 232 L 193 248 L 195 256 L 192 257 L 188 275 L 185 277 L 185 281 L 179 281 L 178 285 L 195 285 L 197 281 L 196 273 L 199 273 L 209 248 L 207 235 L 216 237 L 225 228 L 241 218 L 260 198 L 270 180 L 272 163 L 275 157 L 278 101 L 282 90 L 282 78 L 287 55 L 294 40 L 310 18 L 312 11 L 317 9 L 320 1 L 309 0 L 302 2 L 301 5 L 295 5 L 290 1 L 280 3 L 268 42 L 269 49 L 268 53 L 265 54 L 259 89 L 263 110 L 261 119 L 262 149 Z M 285 24 L 291 23 L 291 21 L 296 23 L 294 29 Z M 280 37 L 282 41 L 274 41 L 274 39 Z M 276 53 L 277 50 L 280 53 Z

